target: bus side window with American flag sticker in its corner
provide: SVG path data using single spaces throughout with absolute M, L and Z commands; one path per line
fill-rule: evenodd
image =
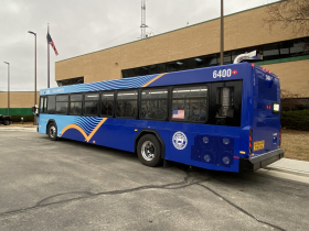
M 207 121 L 207 87 L 180 87 L 172 94 L 171 119 L 175 121 Z

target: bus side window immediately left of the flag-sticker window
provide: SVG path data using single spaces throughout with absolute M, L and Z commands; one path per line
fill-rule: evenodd
M 168 117 L 168 89 L 141 91 L 140 119 L 166 120 Z

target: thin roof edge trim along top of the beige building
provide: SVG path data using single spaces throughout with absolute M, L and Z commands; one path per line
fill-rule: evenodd
M 247 9 L 247 10 L 238 11 L 238 12 L 235 12 L 235 13 L 226 14 L 226 15 L 224 15 L 224 18 L 232 16 L 232 15 L 238 14 L 238 13 L 244 13 L 244 12 L 246 12 L 246 11 L 256 10 L 256 9 L 258 9 L 258 8 L 264 8 L 264 7 L 267 7 L 267 6 L 270 6 L 270 4 L 278 3 L 279 1 L 281 1 L 281 0 L 278 0 L 278 1 L 276 1 L 276 2 L 271 2 L 271 3 L 268 3 L 268 4 L 264 4 L 264 6 L 251 8 L 251 9 Z M 184 28 L 180 28 L 180 29 L 175 29 L 175 30 L 172 30 L 172 31 L 168 31 L 168 32 L 164 32 L 164 33 L 161 33 L 161 34 L 158 34 L 158 35 L 150 36 L 150 37 L 148 37 L 148 38 L 136 40 L 136 41 L 131 41 L 131 42 L 128 42 L 128 43 L 122 43 L 122 44 L 115 45 L 115 46 L 110 46 L 110 47 L 107 47 L 107 48 L 104 48 L 104 50 L 99 50 L 99 51 L 96 51 L 96 52 L 90 52 L 90 53 L 86 53 L 86 54 L 83 54 L 83 55 L 77 55 L 77 56 L 74 56 L 74 57 L 70 57 L 70 58 L 65 58 L 65 59 L 62 59 L 62 61 L 57 61 L 57 62 L 55 62 L 55 63 L 60 63 L 60 62 L 64 62 L 64 61 L 73 59 L 73 58 L 77 58 L 77 57 L 85 56 L 85 55 L 90 55 L 90 54 L 98 53 L 98 52 L 103 52 L 103 51 L 107 51 L 107 50 L 110 50 L 110 48 L 116 48 L 116 47 L 118 47 L 118 46 L 124 46 L 124 45 L 127 45 L 127 44 L 130 44 L 130 43 L 137 43 L 137 42 L 141 42 L 141 41 L 145 41 L 145 40 L 150 40 L 150 38 L 152 38 L 152 37 L 161 36 L 161 35 L 163 35 L 163 34 L 168 34 L 168 33 L 172 33 L 172 32 L 175 32 L 175 31 L 184 30 L 184 29 L 188 29 L 188 28 L 192 28 L 192 26 L 200 25 L 200 24 L 203 24 L 203 23 L 206 23 L 206 22 L 211 22 L 211 21 L 215 21 L 215 20 L 219 20 L 219 19 L 220 19 L 220 16 L 219 16 L 219 18 L 214 18 L 214 19 L 211 19 L 211 20 L 198 22 L 198 23 L 195 23 L 195 24 L 188 25 L 188 26 L 184 26 Z

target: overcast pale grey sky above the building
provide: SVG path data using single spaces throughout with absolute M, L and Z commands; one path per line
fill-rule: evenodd
M 278 0 L 225 0 L 231 14 Z M 47 86 L 46 32 L 57 48 L 51 52 L 51 87 L 57 61 L 139 40 L 140 0 L 0 0 L 0 91 L 34 89 L 34 35 L 38 34 L 38 89 Z M 147 0 L 148 32 L 164 33 L 220 16 L 220 0 Z

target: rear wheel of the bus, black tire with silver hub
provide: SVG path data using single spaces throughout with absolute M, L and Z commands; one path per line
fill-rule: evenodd
M 161 145 L 152 134 L 143 135 L 137 144 L 137 155 L 139 161 L 149 167 L 159 165 L 161 160 Z

